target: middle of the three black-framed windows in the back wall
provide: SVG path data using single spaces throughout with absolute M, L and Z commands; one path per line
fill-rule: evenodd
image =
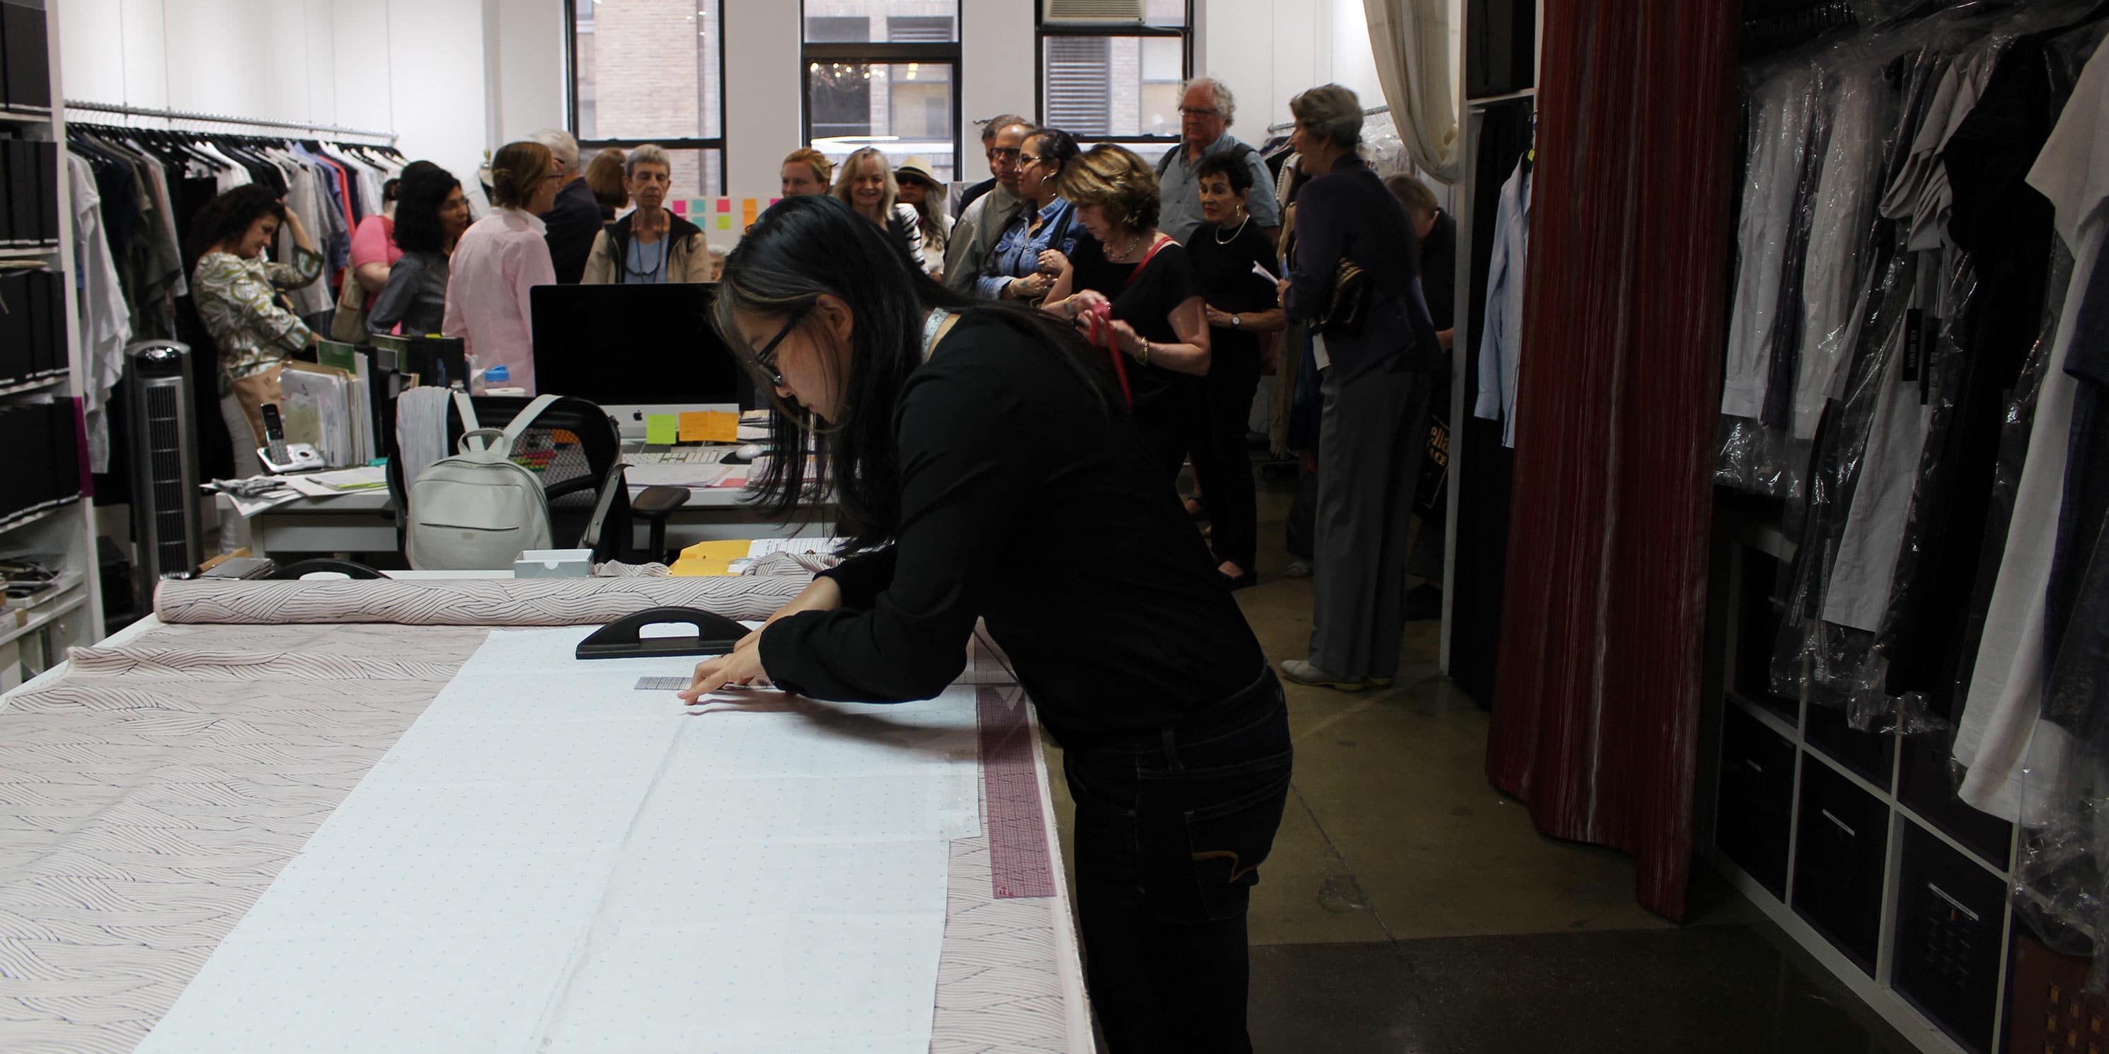
M 960 169 L 960 0 L 806 0 L 806 139 Z

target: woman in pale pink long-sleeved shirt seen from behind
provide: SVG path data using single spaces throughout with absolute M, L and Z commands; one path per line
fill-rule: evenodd
M 542 143 L 506 143 L 491 158 L 491 204 L 453 247 L 447 278 L 449 337 L 464 337 L 472 369 L 487 388 L 534 388 L 534 337 L 527 329 L 527 289 L 557 285 L 557 268 L 542 240 L 542 219 L 557 200 L 563 173 Z M 508 377 L 496 382 L 491 369 Z

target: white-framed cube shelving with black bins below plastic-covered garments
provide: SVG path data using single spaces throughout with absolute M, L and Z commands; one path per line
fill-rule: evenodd
M 1715 504 L 1700 843 L 1919 1050 L 2006 1050 L 2018 835 L 1955 797 L 1949 734 L 1856 731 L 1841 710 L 1769 691 L 1791 559 L 1776 512 Z

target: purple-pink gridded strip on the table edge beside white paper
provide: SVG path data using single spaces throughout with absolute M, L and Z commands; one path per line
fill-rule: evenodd
M 981 725 L 981 790 L 989 818 L 989 885 L 998 900 L 1054 896 L 1046 809 L 1033 767 L 1033 727 L 1023 687 L 983 685 L 974 700 Z

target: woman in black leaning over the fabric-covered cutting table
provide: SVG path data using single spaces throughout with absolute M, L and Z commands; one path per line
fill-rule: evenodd
M 985 620 L 1065 746 L 1107 1043 L 1251 1050 L 1244 909 L 1289 793 L 1282 689 L 1103 352 L 924 280 L 825 198 L 740 240 L 717 325 L 776 394 L 774 447 L 820 443 L 820 474 L 770 462 L 768 506 L 791 514 L 825 479 L 850 559 L 681 698 L 932 698 Z

